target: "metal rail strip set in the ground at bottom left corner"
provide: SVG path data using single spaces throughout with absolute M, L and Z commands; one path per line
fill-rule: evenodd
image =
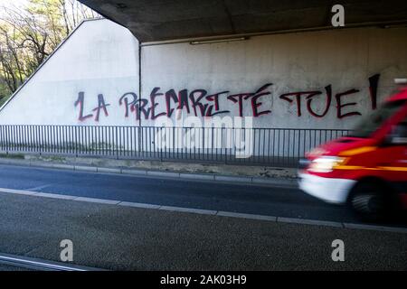
M 62 262 L 3 253 L 0 253 L 0 265 L 14 266 L 35 271 L 107 271 L 95 267 L 77 266 Z

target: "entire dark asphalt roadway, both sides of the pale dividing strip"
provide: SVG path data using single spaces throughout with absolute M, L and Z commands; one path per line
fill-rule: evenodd
M 294 188 L 0 165 L 0 188 L 357 222 Z M 1 191 L 1 190 L 0 190 Z M 406 270 L 407 234 L 122 207 L 0 192 L 0 253 L 113 270 Z M 399 225 L 400 227 L 400 225 Z M 345 242 L 345 262 L 331 259 Z M 19 270 L 0 265 L 0 270 Z

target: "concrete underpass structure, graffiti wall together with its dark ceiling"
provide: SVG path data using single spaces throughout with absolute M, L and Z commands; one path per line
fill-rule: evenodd
M 405 1 L 344 1 L 343 28 L 330 25 L 329 1 L 81 2 L 109 19 L 81 23 L 0 109 L 2 125 L 184 135 L 249 117 L 257 154 L 298 156 L 355 126 L 407 75 Z M 156 150 L 154 136 L 143 142 Z

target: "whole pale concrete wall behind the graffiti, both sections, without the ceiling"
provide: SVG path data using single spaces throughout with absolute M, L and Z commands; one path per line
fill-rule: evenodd
M 173 120 L 194 116 L 195 109 L 200 118 L 239 116 L 241 99 L 242 116 L 254 117 L 256 127 L 350 128 L 373 109 L 370 77 L 378 78 L 380 103 L 393 78 L 407 75 L 406 36 L 406 28 L 361 28 L 146 46 L 140 102 L 137 40 L 116 23 L 89 21 L 3 107 L 0 124 L 135 126 L 140 117 L 142 126 L 152 126 L 169 113 Z

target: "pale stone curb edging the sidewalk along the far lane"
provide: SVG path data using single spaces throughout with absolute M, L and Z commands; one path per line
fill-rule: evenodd
M 266 186 L 279 186 L 285 188 L 298 188 L 297 179 L 283 179 L 283 178 L 260 178 L 250 176 L 232 176 L 232 175 L 218 175 L 211 173 L 197 173 L 197 172 L 165 172 L 165 171 L 149 171 L 140 169 L 122 169 L 122 168 L 109 168 L 97 167 L 87 165 L 75 165 L 65 163 L 42 163 L 32 162 L 27 160 L 14 160 L 0 158 L 0 164 L 22 165 L 30 167 L 61 169 L 78 172 L 99 172 L 99 173 L 118 173 L 126 175 L 138 175 L 149 177 L 162 177 L 188 181 L 209 181 L 209 182 L 232 182 L 234 184 L 251 184 L 251 185 L 266 185 Z

